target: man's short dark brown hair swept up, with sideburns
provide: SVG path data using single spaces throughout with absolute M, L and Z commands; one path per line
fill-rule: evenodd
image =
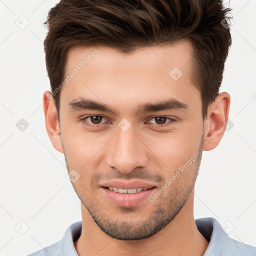
M 131 53 L 189 38 L 192 79 L 201 92 L 205 118 L 219 93 L 231 45 L 229 26 L 224 25 L 230 10 L 222 0 L 60 0 L 43 23 L 48 27 L 44 51 L 51 91 L 63 81 L 73 47 L 101 45 Z M 60 93 L 54 94 L 59 119 Z

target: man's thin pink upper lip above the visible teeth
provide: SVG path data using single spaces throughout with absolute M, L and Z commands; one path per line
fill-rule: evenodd
M 102 182 L 99 184 L 100 186 L 112 186 L 112 187 L 118 187 L 123 189 L 129 189 L 129 188 L 152 188 L 155 185 L 143 180 L 130 180 L 130 181 L 123 181 L 120 179 L 110 180 L 106 182 Z

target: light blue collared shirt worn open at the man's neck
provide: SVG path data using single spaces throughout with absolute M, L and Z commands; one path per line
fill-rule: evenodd
M 200 233 L 210 241 L 204 256 L 256 256 L 256 247 L 229 237 L 215 218 L 198 218 L 195 224 Z M 73 242 L 79 238 L 81 228 L 81 221 L 71 224 L 58 242 L 28 256 L 78 256 Z

